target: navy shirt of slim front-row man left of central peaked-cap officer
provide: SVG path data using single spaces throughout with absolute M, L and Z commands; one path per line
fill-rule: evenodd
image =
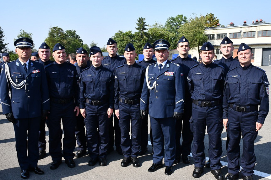
M 143 88 L 146 68 L 136 63 L 123 64 L 115 69 L 115 109 L 118 98 L 139 100 Z

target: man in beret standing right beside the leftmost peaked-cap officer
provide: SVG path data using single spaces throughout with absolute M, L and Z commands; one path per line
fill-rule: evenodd
M 51 169 L 56 169 L 61 163 L 61 136 L 59 136 L 62 120 L 63 157 L 68 167 L 75 167 L 73 150 L 76 145 L 75 126 L 79 114 L 77 71 L 73 64 L 66 62 L 65 47 L 57 43 L 53 48 L 55 62 L 45 67 L 51 100 L 50 113 L 47 119 L 49 129 L 49 153 L 53 162 Z

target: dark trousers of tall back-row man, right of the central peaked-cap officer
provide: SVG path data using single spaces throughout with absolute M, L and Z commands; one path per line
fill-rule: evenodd
M 190 130 L 189 120 L 192 115 L 192 101 L 186 100 L 182 120 L 176 121 L 176 157 L 188 156 L 191 152 L 193 133 Z M 182 146 L 180 143 L 182 136 Z

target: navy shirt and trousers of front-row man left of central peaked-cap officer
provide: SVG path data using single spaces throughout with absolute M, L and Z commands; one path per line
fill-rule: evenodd
M 124 157 L 138 157 L 141 118 L 139 102 L 143 88 L 145 68 L 134 63 L 115 69 L 115 109 L 119 110 L 121 148 Z M 130 124 L 132 137 L 130 139 Z

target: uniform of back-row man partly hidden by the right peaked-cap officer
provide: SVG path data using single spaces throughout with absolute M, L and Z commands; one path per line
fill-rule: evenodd
M 137 64 L 144 66 L 147 68 L 149 64 L 153 64 L 156 61 L 154 59 L 151 59 L 149 61 L 145 61 L 144 59 L 142 61 L 139 61 Z M 147 109 L 148 110 L 148 109 Z M 142 125 L 141 125 L 141 147 L 147 147 L 149 139 L 148 134 L 150 135 L 150 141 L 153 146 L 153 138 L 152 138 L 152 129 L 150 128 L 150 133 L 148 133 L 148 115 L 149 110 L 147 111 L 146 117 L 142 119 Z

